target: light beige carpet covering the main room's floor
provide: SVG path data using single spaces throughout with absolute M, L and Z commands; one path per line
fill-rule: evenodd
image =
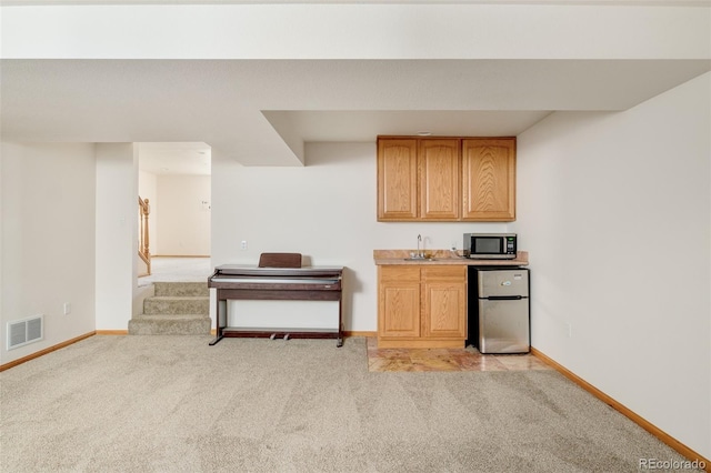
M 3 472 L 632 472 L 682 460 L 553 371 L 370 373 L 365 341 L 97 335 L 0 373 Z

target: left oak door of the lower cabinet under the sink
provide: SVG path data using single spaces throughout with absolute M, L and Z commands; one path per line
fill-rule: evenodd
M 420 336 L 420 269 L 380 266 L 378 336 Z

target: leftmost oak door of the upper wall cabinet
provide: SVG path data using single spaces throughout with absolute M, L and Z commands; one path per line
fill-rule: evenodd
M 418 140 L 378 140 L 378 220 L 418 218 Z

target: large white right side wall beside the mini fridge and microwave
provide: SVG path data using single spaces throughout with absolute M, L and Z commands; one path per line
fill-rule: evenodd
M 532 343 L 711 457 L 711 74 L 519 137 Z

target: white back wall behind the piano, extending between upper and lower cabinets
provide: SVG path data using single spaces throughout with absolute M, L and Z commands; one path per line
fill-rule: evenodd
M 212 154 L 212 263 L 257 264 L 262 252 L 297 252 L 344 265 L 346 330 L 377 330 L 373 250 L 462 246 L 469 231 L 504 223 L 379 223 L 375 144 L 309 143 L 304 168 L 246 168 Z M 240 250 L 240 242 L 248 250 Z M 214 315 L 214 314 L 213 314 Z

